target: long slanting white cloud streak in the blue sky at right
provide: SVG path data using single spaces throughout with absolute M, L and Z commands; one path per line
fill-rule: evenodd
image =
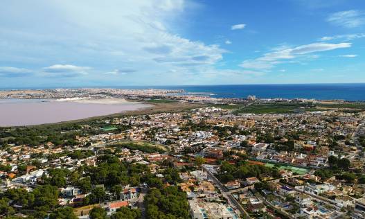
M 310 53 L 317 53 L 321 51 L 330 51 L 340 48 L 350 47 L 350 43 L 339 43 L 339 44 L 327 44 L 327 43 L 314 43 L 302 46 L 296 46 L 293 48 L 284 46 L 283 49 L 276 49 L 275 51 L 265 53 L 260 58 L 253 60 L 244 60 L 241 67 L 245 69 L 260 69 L 268 70 L 276 66 L 276 64 L 281 64 L 285 60 L 292 60 L 294 58 L 306 56 L 307 58 L 313 58 L 313 55 L 307 55 Z M 314 55 L 314 57 L 318 57 Z

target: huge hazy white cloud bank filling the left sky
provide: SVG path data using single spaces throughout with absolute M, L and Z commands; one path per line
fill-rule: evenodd
M 4 54 L 11 54 L 17 57 L 11 61 L 35 66 L 61 62 L 92 67 L 46 67 L 47 75 L 89 73 L 87 78 L 100 81 L 107 78 L 106 72 L 114 72 L 113 67 L 119 75 L 127 73 L 119 82 L 174 83 L 184 78 L 177 78 L 179 72 L 200 73 L 214 67 L 226 53 L 219 45 L 179 35 L 184 32 L 178 25 L 186 21 L 184 12 L 194 12 L 195 5 L 188 0 L 11 1 L 0 13 L 2 26 L 10 27 L 0 29 L 0 42 L 6 42 L 6 46 L 0 44 L 0 62 L 9 61 Z M 136 73 L 125 72 L 125 66 Z

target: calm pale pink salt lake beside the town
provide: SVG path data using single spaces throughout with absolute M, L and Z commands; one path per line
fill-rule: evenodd
M 150 107 L 150 105 L 143 103 L 111 105 L 48 100 L 0 99 L 0 126 L 57 123 L 146 107 Z

